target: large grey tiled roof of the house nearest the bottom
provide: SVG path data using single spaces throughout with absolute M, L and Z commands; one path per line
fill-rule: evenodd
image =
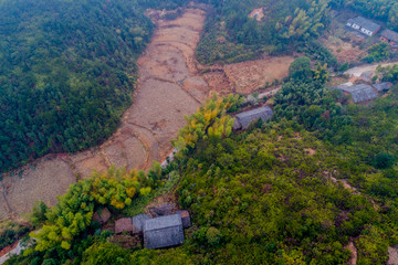
M 149 219 L 144 222 L 145 247 L 163 248 L 184 243 L 184 229 L 180 214 Z

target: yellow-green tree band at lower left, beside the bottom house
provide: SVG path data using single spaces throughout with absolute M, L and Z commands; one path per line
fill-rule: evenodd
M 91 224 L 96 205 L 124 209 L 139 194 L 139 189 L 137 171 L 127 173 L 114 166 L 107 173 L 94 172 L 90 179 L 72 184 L 46 214 L 49 220 L 43 229 L 31 234 L 38 240 L 35 250 L 45 251 L 59 244 L 69 250 L 71 241 Z M 149 193 L 150 188 L 144 189 L 142 193 Z

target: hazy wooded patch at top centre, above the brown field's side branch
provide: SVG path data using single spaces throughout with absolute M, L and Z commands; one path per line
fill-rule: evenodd
M 294 51 L 316 39 L 328 23 L 328 1 L 209 1 L 214 9 L 197 49 L 203 64 L 240 62 L 259 54 Z M 249 18 L 255 8 L 264 8 L 263 22 Z

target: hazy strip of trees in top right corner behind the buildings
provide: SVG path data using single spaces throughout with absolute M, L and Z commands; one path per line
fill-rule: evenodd
M 331 4 L 385 21 L 391 30 L 398 30 L 398 3 L 395 0 L 332 0 Z

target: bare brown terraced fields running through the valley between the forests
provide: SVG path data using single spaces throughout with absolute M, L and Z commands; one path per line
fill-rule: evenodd
M 54 205 L 57 195 L 76 180 L 90 177 L 93 169 L 105 171 L 114 163 L 148 170 L 153 161 L 167 157 L 172 149 L 170 139 L 186 124 L 184 116 L 195 113 L 206 98 L 214 93 L 250 94 L 265 82 L 287 75 L 293 57 L 268 57 L 203 71 L 207 66 L 195 59 L 205 24 L 203 9 L 190 6 L 176 20 L 154 20 L 157 30 L 137 62 L 134 103 L 118 130 L 98 147 L 74 155 L 48 155 L 14 176 L 6 176 L 0 182 L 0 219 L 30 212 L 36 200 Z

